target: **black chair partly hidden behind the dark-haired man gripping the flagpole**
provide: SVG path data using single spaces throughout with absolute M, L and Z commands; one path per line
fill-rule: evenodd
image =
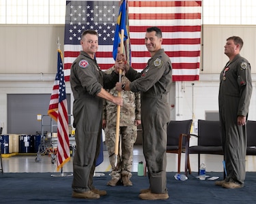
M 180 173 L 180 160 L 182 152 L 186 151 L 186 140 L 182 135 L 190 133 L 192 120 L 171 120 L 167 126 L 167 153 L 178 155 L 177 172 Z M 185 158 L 186 159 L 186 158 Z M 190 171 L 190 165 L 187 166 Z M 187 173 L 185 169 L 185 174 Z

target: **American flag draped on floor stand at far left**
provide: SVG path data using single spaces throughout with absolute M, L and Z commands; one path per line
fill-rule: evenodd
M 57 74 L 53 84 L 48 115 L 57 122 L 57 171 L 70 160 L 68 133 L 68 103 L 63 73 L 62 53 L 58 49 Z

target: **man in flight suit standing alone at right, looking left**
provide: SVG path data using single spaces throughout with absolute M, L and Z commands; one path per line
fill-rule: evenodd
M 246 121 L 252 82 L 251 65 L 240 56 L 242 46 L 243 41 L 237 36 L 229 37 L 224 46 L 229 62 L 221 71 L 218 106 L 227 177 L 215 182 L 223 188 L 244 187 L 246 173 Z

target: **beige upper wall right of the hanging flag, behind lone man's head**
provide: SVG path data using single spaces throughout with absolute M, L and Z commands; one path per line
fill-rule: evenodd
M 256 26 L 203 26 L 203 50 L 202 63 L 203 71 L 200 73 L 220 73 L 229 58 L 224 54 L 224 46 L 227 37 L 238 35 L 244 40 L 241 55 L 250 63 L 252 73 L 256 73 L 255 41 Z

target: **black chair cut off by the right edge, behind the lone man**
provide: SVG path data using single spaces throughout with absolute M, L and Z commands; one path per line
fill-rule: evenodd
M 246 122 L 247 133 L 247 148 L 246 155 L 256 155 L 256 121 L 247 120 Z

